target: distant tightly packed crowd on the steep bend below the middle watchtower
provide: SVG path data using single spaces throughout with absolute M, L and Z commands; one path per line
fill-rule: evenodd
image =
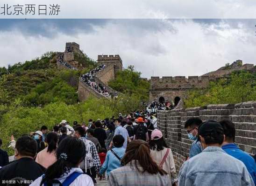
M 106 86 L 98 84 L 95 80 L 96 73 L 100 72 L 106 67 L 105 64 L 98 66 L 97 68 L 85 73 L 81 76 L 81 80 L 85 82 L 86 85 L 90 86 L 94 91 L 102 94 L 103 96 L 109 98 L 111 95 L 108 93 Z

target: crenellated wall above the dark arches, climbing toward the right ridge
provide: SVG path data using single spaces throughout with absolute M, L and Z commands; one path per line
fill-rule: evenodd
M 242 60 L 236 60 L 231 65 L 222 66 L 202 76 L 151 77 L 149 101 L 159 100 L 160 97 L 164 97 L 165 100 L 173 100 L 175 97 L 183 98 L 188 90 L 206 88 L 209 81 L 218 80 L 239 70 L 256 71 L 256 67 L 253 64 L 243 65 Z

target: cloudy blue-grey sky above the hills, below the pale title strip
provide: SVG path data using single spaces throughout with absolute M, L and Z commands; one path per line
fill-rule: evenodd
M 256 12 L 256 9 L 255 9 Z M 202 75 L 226 63 L 256 65 L 256 19 L 0 20 L 0 66 L 64 51 L 119 54 L 142 77 Z

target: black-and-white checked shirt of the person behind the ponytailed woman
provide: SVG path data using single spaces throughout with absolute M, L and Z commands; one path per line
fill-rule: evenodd
M 81 137 L 79 138 L 79 140 L 82 140 L 82 141 L 86 141 L 86 138 L 84 137 Z M 100 168 L 101 168 L 101 163 L 100 163 L 100 157 L 99 157 L 99 154 L 97 152 L 97 148 L 96 146 L 90 141 L 90 151 L 92 153 L 92 162 L 93 162 L 93 166 L 95 166 L 96 170 L 99 171 Z M 80 163 L 80 168 L 83 169 L 85 168 L 85 160 L 83 160 L 81 163 Z M 91 168 L 91 167 L 90 167 Z

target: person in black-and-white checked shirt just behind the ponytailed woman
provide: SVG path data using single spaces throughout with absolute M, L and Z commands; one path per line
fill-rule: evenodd
M 86 156 L 85 159 L 80 163 L 80 168 L 84 173 L 89 175 L 94 183 L 96 182 L 97 172 L 100 170 L 100 158 L 97 152 L 96 146 L 90 140 L 86 140 L 85 130 L 82 126 L 75 128 L 75 137 L 85 143 Z

